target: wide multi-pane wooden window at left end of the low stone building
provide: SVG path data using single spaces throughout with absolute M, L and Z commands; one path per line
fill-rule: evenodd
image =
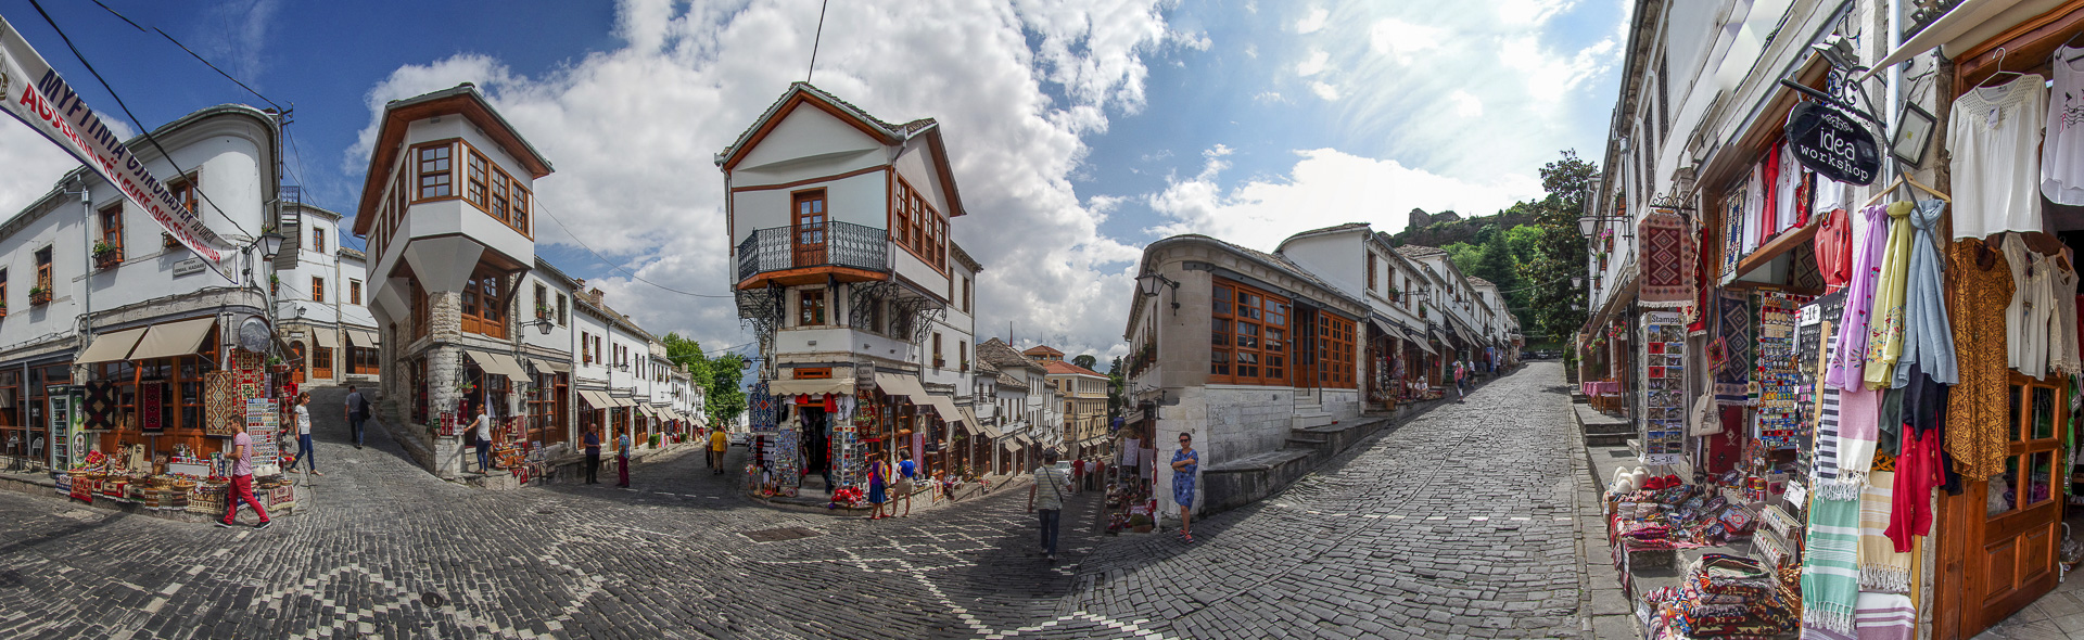
M 1227 292 L 1227 298 L 1219 296 Z M 1252 313 L 1244 313 L 1244 296 L 1259 300 Z M 1288 296 L 1215 277 L 1209 296 L 1209 381 L 1248 386 L 1290 386 L 1294 375 L 1294 304 Z M 1277 313 L 1277 315 L 1275 315 Z M 1248 336 L 1240 327 L 1250 325 Z M 1280 331 L 1280 334 L 1269 334 Z M 1221 344 L 1217 344 L 1221 340 Z M 1252 363 L 1242 363 L 1238 354 L 1248 354 Z M 1252 367 L 1246 373 L 1244 367 Z

